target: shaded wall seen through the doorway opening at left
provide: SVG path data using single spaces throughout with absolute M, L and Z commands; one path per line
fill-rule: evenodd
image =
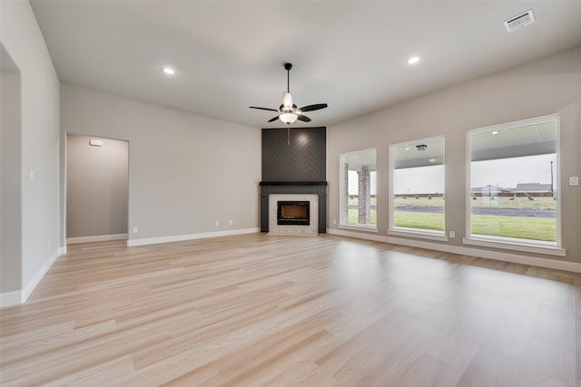
M 92 146 L 90 140 L 102 145 Z M 127 234 L 128 150 L 127 141 L 67 136 L 67 239 Z

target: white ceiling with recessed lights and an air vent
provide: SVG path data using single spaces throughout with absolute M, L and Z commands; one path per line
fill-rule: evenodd
M 326 126 L 581 44 L 579 1 L 31 3 L 62 82 L 258 128 L 285 62 L 299 106 L 329 104 L 294 125 Z

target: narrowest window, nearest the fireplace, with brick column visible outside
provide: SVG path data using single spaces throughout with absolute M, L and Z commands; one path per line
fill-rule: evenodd
M 340 226 L 377 230 L 377 151 L 340 154 Z

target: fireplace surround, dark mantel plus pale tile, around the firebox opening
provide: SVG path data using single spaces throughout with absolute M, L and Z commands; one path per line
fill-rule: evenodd
M 309 200 L 310 226 L 277 225 L 279 200 Z M 261 181 L 261 232 L 279 235 L 317 235 L 327 232 L 327 182 Z

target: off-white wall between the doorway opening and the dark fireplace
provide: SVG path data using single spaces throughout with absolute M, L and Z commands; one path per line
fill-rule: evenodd
M 260 129 L 66 84 L 61 108 L 66 133 L 129 141 L 130 245 L 258 227 Z

